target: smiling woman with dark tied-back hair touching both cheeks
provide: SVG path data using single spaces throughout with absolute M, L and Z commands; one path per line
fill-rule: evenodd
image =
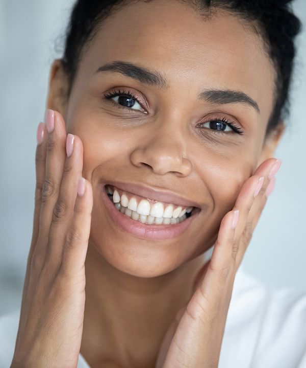
M 286 3 L 75 4 L 37 131 L 12 368 L 305 363 L 302 327 L 281 349 L 288 330 L 267 343 L 269 313 L 231 302 L 281 165 L 299 28 Z M 302 326 L 306 296 L 277 297 Z

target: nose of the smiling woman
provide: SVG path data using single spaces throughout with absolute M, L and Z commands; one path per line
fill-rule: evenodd
M 170 126 L 155 126 L 137 137 L 138 142 L 130 159 L 134 166 L 148 166 L 155 174 L 175 173 L 179 176 L 190 174 L 192 166 L 186 157 L 184 139 L 175 134 Z M 139 140 L 140 139 L 140 140 Z M 140 144 L 138 144 L 141 142 Z

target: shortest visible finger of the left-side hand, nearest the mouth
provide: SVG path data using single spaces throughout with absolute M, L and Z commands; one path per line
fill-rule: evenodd
M 61 265 L 61 272 L 72 277 L 78 272 L 81 272 L 81 275 L 84 273 L 92 203 L 91 184 L 82 177 L 78 181 L 78 195 L 75 200 L 72 223 L 66 236 Z

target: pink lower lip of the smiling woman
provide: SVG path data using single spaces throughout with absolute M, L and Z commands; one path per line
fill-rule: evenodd
M 104 187 L 102 187 L 102 196 L 105 201 L 106 208 L 108 209 L 109 215 L 113 219 L 113 221 L 127 233 L 130 233 L 142 239 L 166 240 L 175 238 L 181 235 L 191 224 L 193 219 L 199 214 L 198 212 L 177 224 L 147 225 L 140 221 L 135 221 L 129 216 L 126 216 L 118 211 L 114 206 L 112 200 L 107 195 Z

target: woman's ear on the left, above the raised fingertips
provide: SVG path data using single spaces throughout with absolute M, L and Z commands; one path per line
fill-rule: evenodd
M 64 71 L 61 59 L 53 61 L 49 75 L 49 90 L 47 95 L 47 109 L 59 111 L 66 117 L 68 104 L 68 76 Z

